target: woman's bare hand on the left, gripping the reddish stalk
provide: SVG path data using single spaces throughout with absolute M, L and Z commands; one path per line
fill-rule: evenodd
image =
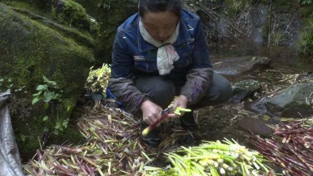
M 144 101 L 140 109 L 142 111 L 142 119 L 148 125 L 153 124 L 157 119 L 161 118 L 161 112 L 163 111 L 161 107 L 150 100 Z

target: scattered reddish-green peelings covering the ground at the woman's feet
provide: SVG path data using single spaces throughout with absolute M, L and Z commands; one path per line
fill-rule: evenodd
M 139 176 L 149 161 L 177 148 L 176 140 L 187 133 L 167 131 L 159 147 L 152 149 L 140 141 L 139 123 L 132 115 L 103 106 L 84 111 L 86 115 L 78 120 L 77 127 L 87 142 L 38 150 L 23 165 L 25 175 Z

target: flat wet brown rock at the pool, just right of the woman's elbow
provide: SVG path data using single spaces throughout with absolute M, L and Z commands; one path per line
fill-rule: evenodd
M 268 57 L 243 56 L 212 58 L 213 69 L 227 77 L 237 77 L 254 70 L 260 70 L 270 65 L 271 60 Z

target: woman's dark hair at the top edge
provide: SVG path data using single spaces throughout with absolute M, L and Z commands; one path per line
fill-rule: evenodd
M 141 17 L 148 11 L 164 12 L 169 10 L 180 17 L 180 0 L 138 0 L 139 15 Z

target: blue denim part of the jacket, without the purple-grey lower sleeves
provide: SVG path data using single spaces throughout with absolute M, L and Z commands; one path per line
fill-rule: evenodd
M 133 79 L 137 74 L 158 74 L 156 46 L 144 41 L 139 32 L 136 13 L 118 27 L 112 53 L 111 78 Z M 211 67 L 209 51 L 200 18 L 182 10 L 179 37 L 173 44 L 179 54 L 169 77 L 185 79 L 193 68 Z

